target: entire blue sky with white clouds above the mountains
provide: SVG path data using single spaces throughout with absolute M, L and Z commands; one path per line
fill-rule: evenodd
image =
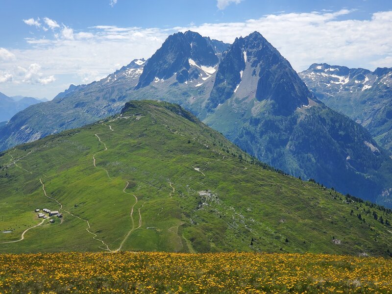
M 188 29 L 226 43 L 257 30 L 297 72 L 392 67 L 391 0 L 0 0 L 0 92 L 51 99 Z

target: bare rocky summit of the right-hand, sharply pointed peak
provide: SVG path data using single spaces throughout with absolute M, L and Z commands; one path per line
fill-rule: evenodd
M 241 86 L 248 83 L 251 91 L 256 87 L 254 97 L 259 101 L 273 101 L 277 113 L 289 114 L 297 107 L 308 105 L 308 99 L 312 98 L 290 63 L 255 31 L 236 38 L 222 57 L 208 108 L 211 110 L 231 98 L 241 87 L 245 73 L 246 81 Z M 250 80 L 253 82 L 249 85 Z

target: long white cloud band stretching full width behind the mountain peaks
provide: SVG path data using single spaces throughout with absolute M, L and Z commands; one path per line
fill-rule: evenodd
M 62 25 L 59 30 L 45 34 L 45 38 L 26 38 L 27 49 L 8 49 L 15 55 L 17 65 L 27 70 L 31 64 L 41 65 L 38 71 L 41 75 L 28 79 L 24 72 L 20 76 L 15 61 L 0 63 L 0 71 L 13 75 L 12 82 L 7 83 L 8 92 L 19 91 L 23 83 L 29 83 L 25 86 L 26 92 L 36 91 L 29 96 L 51 98 L 63 91 L 63 85 L 68 81 L 88 83 L 114 72 L 119 68 L 118 64 L 126 65 L 134 58 L 150 57 L 168 35 L 187 29 L 226 43 L 259 31 L 296 71 L 302 71 L 314 62 L 370 70 L 378 66 L 392 67 L 392 11 L 374 13 L 361 21 L 350 20 L 350 13 L 346 9 L 279 13 L 237 23 L 173 28 L 98 25 L 80 31 Z M 44 88 L 40 85 L 50 81 L 50 76 L 55 76 L 56 81 L 45 87 L 51 89 L 50 93 L 42 94 Z M 20 84 L 16 85 L 18 82 Z

